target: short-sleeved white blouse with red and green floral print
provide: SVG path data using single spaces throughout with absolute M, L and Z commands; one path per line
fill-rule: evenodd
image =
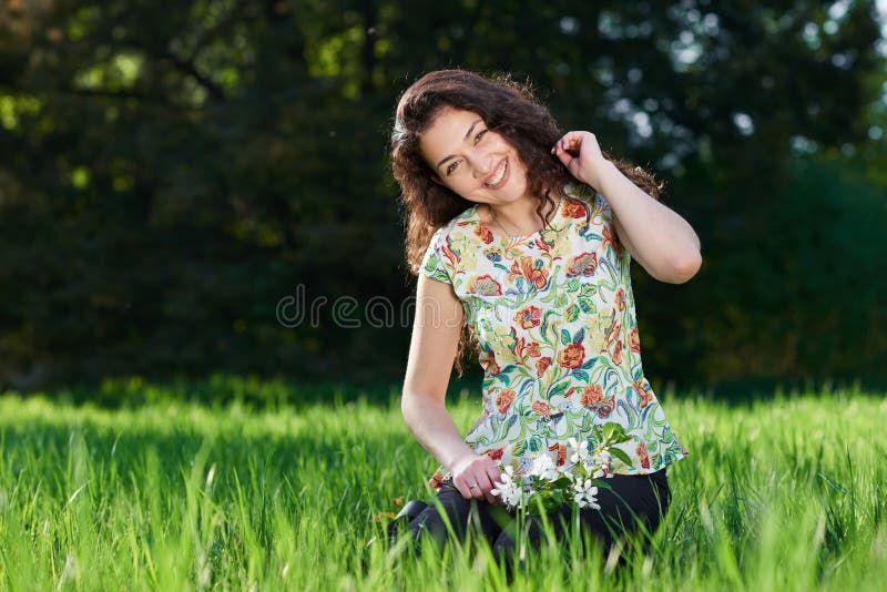
M 603 195 L 568 185 L 551 228 L 493 236 L 477 205 L 439 228 L 419 273 L 452 285 L 480 345 L 483 412 L 465 437 L 478 453 L 524 474 L 540 455 L 557 465 L 568 440 L 616 421 L 610 472 L 657 471 L 689 452 L 644 378 L 629 266 Z M 587 218 L 587 207 L 590 217 Z M 450 477 L 438 466 L 429 484 Z

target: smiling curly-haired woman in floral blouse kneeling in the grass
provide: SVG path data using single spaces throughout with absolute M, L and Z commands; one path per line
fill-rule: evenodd
M 429 483 L 447 514 L 428 506 L 414 537 L 442 541 L 449 522 L 461 539 L 473 517 L 497 558 L 510 559 L 514 514 L 493 493 L 504 468 L 526 474 L 540 455 L 563 465 L 568 440 L 605 421 L 625 428 L 619 447 L 632 462 L 613 459 L 601 509 L 581 510 L 582 528 L 604 544 L 652 532 L 670 499 L 666 467 L 687 451 L 643 376 L 629 265 L 689 280 L 702 262 L 693 228 L 656 201 L 649 173 L 610 160 L 592 133 L 561 134 L 508 79 L 419 79 L 397 105 L 391 160 L 419 276 L 401 409 L 440 462 Z M 461 438 L 445 394 L 469 339 L 485 370 L 483 414 Z M 534 523 L 530 540 L 540 537 Z

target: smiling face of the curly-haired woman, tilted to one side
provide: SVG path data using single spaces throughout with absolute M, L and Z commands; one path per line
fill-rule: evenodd
M 419 139 L 440 182 L 466 200 L 503 205 L 527 197 L 518 151 L 471 111 L 445 108 Z

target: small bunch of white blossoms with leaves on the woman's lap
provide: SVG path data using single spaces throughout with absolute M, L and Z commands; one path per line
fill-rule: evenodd
M 493 483 L 496 489 L 491 490 L 492 494 L 509 509 L 518 509 L 521 516 L 530 508 L 541 506 L 543 511 L 549 511 L 570 500 L 579 508 L 600 510 L 598 487 L 605 487 L 601 478 L 612 477 L 611 456 L 626 465 L 631 463 L 628 455 L 613 448 L 613 445 L 630 438 L 622 426 L 614 422 L 595 426 L 592 435 L 593 438 L 581 442 L 575 438 L 568 440 L 570 465 L 558 467 L 550 456 L 540 455 L 522 478 L 514 474 L 512 467 L 507 467 L 502 480 Z M 589 440 L 597 442 L 592 450 L 589 449 Z

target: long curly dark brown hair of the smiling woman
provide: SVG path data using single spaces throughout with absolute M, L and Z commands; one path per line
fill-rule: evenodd
M 527 170 L 528 191 L 539 200 L 536 208 L 543 224 L 546 202 L 554 190 L 560 196 L 567 183 L 575 183 L 551 147 L 563 135 L 554 120 L 534 96 L 529 82 L 519 83 L 509 74 L 485 76 L 467 70 L 438 70 L 414 82 L 397 103 L 390 140 L 394 176 L 400 185 L 405 210 L 406 258 L 409 271 L 418 275 L 431 235 L 453 217 L 475 205 L 452 190 L 432 181 L 434 170 L 419 150 L 419 137 L 445 109 L 453 108 L 478 114 L 488 130 L 512 144 Z M 659 200 L 663 185 L 640 166 L 632 166 L 602 155 L 626 177 Z M 588 205 L 585 205 L 588 211 Z M 587 212 L 590 214 L 590 212 Z M 456 370 L 462 375 L 461 359 L 469 349 L 477 350 L 477 338 L 466 323 L 456 355 Z

